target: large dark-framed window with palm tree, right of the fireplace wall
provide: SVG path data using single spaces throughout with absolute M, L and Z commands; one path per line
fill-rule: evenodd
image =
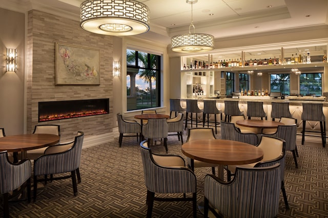
M 160 55 L 127 50 L 128 111 L 160 106 L 160 59 Z

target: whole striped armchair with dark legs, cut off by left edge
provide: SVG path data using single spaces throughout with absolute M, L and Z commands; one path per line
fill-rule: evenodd
M 19 190 L 17 190 L 20 187 Z M 3 195 L 4 217 L 9 217 L 8 200 L 25 191 L 27 199 L 31 201 L 31 161 L 23 160 L 12 164 L 8 159 L 7 151 L 0 152 L 0 194 Z M 9 192 L 14 191 L 13 195 Z M 17 192 L 18 191 L 18 192 Z

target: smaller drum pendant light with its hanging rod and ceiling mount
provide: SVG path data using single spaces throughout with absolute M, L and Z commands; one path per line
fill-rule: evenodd
M 189 26 L 189 34 L 176 35 L 171 38 L 171 50 L 174 52 L 206 52 L 214 49 L 214 36 L 204 33 L 195 33 L 193 24 L 193 4 L 197 0 L 186 0 L 191 4 L 191 24 Z M 194 33 L 191 33 L 191 29 Z

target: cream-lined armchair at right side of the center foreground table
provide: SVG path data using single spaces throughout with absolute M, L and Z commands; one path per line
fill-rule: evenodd
M 242 167 L 265 167 L 271 166 L 273 164 L 279 163 L 281 166 L 280 170 L 280 181 L 281 181 L 281 191 L 283 195 L 283 200 L 286 206 L 286 209 L 289 208 L 288 200 L 286 196 L 286 191 L 284 187 L 284 168 L 285 168 L 285 146 L 286 142 L 283 139 L 279 139 L 272 136 L 260 136 L 260 142 L 257 147 L 260 147 L 263 150 L 263 159 L 259 162 L 238 165 Z M 236 172 L 235 165 L 228 165 L 227 167 L 227 179 L 231 180 L 231 176 Z

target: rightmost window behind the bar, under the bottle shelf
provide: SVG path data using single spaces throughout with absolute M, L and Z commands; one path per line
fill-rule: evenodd
M 303 95 L 322 95 L 322 74 L 302 73 L 299 76 L 299 90 Z

